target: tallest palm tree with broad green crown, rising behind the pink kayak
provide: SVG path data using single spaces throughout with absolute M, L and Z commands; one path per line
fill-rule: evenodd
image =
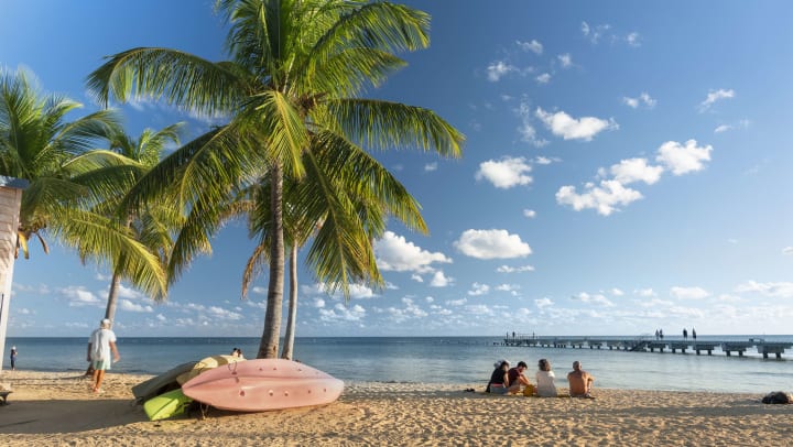
M 177 150 L 139 182 L 128 206 L 175 184 L 189 210 L 170 264 L 205 248 L 221 218 L 218 203 L 268 177 L 268 305 L 259 358 L 274 358 L 284 281 L 284 176 L 317 176 L 327 194 L 305 203 L 330 209 L 306 261 L 318 279 L 349 294 L 351 282 L 381 283 L 369 235 L 354 204 L 330 193 L 347 164 L 368 178 L 368 150 L 415 148 L 459 156 L 463 135 L 433 111 L 360 94 L 403 67 L 395 54 L 428 45 L 430 18 L 388 2 L 361 0 L 218 0 L 230 23 L 230 62 L 213 63 L 166 48 L 132 48 L 91 73 L 89 87 L 107 103 L 151 96 L 229 122 Z M 347 179 L 349 190 L 362 181 Z M 358 186 L 355 183 L 357 182 Z M 381 196 L 391 192 L 376 184 Z M 313 189 L 311 194 L 316 190 Z M 406 194 L 406 193 L 405 193 Z M 394 200 L 399 203 L 399 200 Z M 414 204 L 411 201 L 411 204 Z M 408 218 L 416 209 L 394 208 Z M 416 222 L 422 227 L 423 222 Z

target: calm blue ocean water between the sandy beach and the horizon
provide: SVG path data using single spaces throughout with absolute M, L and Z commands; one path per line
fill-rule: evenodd
M 793 341 L 793 336 L 718 336 L 708 339 Z M 667 337 L 667 339 L 674 339 Z M 500 337 L 306 337 L 295 340 L 295 359 L 346 382 L 487 383 L 498 359 L 512 364 L 523 360 L 532 379 L 537 360 L 548 359 L 557 383 L 566 385 L 572 363 L 579 360 L 596 379 L 595 385 L 611 389 L 750 392 L 793 391 L 793 350 L 782 360 L 762 359 L 753 349 L 745 357 L 727 357 L 715 351 L 696 356 L 655 352 L 627 352 L 608 349 L 509 347 Z M 17 346 L 17 368 L 34 371 L 85 371 L 87 337 L 14 338 L 6 341 L 3 369 L 9 351 Z M 121 361 L 112 372 L 157 374 L 172 367 L 204 357 L 227 355 L 242 349 L 254 358 L 259 338 L 157 338 L 121 337 Z

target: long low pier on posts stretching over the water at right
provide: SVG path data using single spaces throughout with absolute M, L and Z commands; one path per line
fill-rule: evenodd
M 764 339 L 750 338 L 747 341 L 732 340 L 663 340 L 653 337 L 633 337 L 633 338 L 593 338 L 593 337 L 537 337 L 534 334 L 514 334 L 507 335 L 503 339 L 503 346 L 514 347 L 535 347 L 535 348 L 571 348 L 571 349 L 605 349 L 623 350 L 632 352 L 655 352 L 663 353 L 665 350 L 672 353 L 707 352 L 713 356 L 715 350 L 720 350 L 727 357 L 731 357 L 734 352 L 738 357 L 743 357 L 747 350 L 756 350 L 763 359 L 768 359 L 769 355 L 774 355 L 782 360 L 782 355 L 787 349 L 793 349 L 793 341 L 765 341 Z

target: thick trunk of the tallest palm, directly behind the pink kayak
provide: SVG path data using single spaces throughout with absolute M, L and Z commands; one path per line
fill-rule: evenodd
M 264 331 L 259 344 L 258 359 L 278 358 L 281 336 L 281 309 L 283 306 L 284 241 L 283 241 L 283 166 L 279 162 L 270 168 L 272 187 L 270 207 L 272 210 L 272 244 L 270 246 L 270 282 L 268 305 L 264 312 Z

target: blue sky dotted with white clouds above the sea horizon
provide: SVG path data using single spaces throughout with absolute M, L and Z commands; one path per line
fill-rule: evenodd
M 793 3 L 411 1 L 431 46 L 366 96 L 435 110 L 459 160 L 376 153 L 423 207 L 428 235 L 390 222 L 381 290 L 348 302 L 301 269 L 298 337 L 791 334 Z M 497 6 L 497 7 L 495 7 Z M 208 0 L 0 0 L 0 66 L 97 110 L 102 57 L 163 46 L 222 61 Z M 214 122 L 115 105 L 126 128 Z M 109 271 L 53 242 L 13 273 L 8 336 L 87 336 Z M 126 284 L 119 336 L 261 336 L 267 273 L 228 222 L 167 301 Z M 302 264 L 302 258 L 301 258 Z M 285 306 L 284 306 L 285 310 Z

